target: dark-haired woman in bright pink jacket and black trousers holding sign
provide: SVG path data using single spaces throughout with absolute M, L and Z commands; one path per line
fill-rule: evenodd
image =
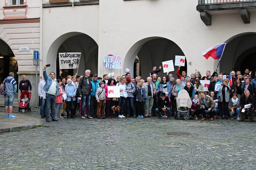
M 109 78 L 108 79 L 108 84 L 104 87 L 105 88 L 105 95 L 106 95 L 106 106 L 105 106 L 105 116 L 107 118 L 113 118 L 115 117 L 113 115 L 113 110 L 111 109 L 112 106 L 115 105 L 115 102 L 112 100 L 113 98 L 108 98 L 108 86 L 115 86 L 113 85 L 114 83 L 114 79 L 113 78 Z

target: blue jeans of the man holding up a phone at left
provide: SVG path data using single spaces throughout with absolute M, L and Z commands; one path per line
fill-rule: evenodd
M 55 119 L 55 104 L 56 104 L 56 97 L 52 94 L 46 93 L 45 96 L 45 107 L 46 107 L 46 119 L 49 119 L 50 115 L 50 107 L 51 107 L 51 117 Z

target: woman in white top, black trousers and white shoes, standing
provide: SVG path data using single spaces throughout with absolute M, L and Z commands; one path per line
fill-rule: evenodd
M 124 118 L 124 101 L 128 97 L 127 91 L 126 91 L 126 84 L 125 84 L 126 78 L 121 77 L 120 83 L 117 83 L 116 86 L 119 86 L 120 88 L 120 98 L 118 98 L 118 106 L 120 106 L 120 111 L 118 111 L 118 117 Z

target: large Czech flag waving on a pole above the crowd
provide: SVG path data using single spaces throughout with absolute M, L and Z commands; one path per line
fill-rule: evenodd
M 226 43 L 217 44 L 203 52 L 203 56 L 208 59 L 209 57 L 212 57 L 215 60 L 220 60 L 224 49 L 225 49 Z

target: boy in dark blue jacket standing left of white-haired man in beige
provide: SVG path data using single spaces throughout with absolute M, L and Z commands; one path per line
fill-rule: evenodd
M 138 108 L 138 118 L 143 118 L 144 116 L 144 100 L 145 100 L 145 96 L 146 96 L 146 91 L 144 88 L 142 87 L 142 83 L 139 82 L 137 84 L 137 96 L 136 96 L 136 101 L 137 102 L 137 108 Z

